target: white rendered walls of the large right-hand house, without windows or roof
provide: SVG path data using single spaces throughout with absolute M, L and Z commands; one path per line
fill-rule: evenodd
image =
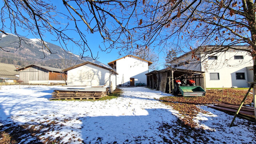
M 208 56 L 217 56 L 217 60 L 208 59 Z M 244 56 L 244 59 L 234 59 L 234 56 Z M 178 61 L 186 60 L 186 58 L 180 58 Z M 244 51 L 228 50 L 227 52 L 220 52 L 215 54 L 200 54 L 200 71 L 204 71 L 206 79 L 206 88 L 230 88 L 232 86 L 248 87 L 248 81 L 253 74 L 247 72 L 246 67 L 253 66 L 252 57 Z M 192 66 L 180 66 L 177 68 L 198 70 L 198 67 Z M 236 73 L 244 73 L 244 80 L 237 80 Z M 210 73 L 219 73 L 219 80 L 210 80 Z M 248 76 L 248 74 L 250 74 Z M 249 79 L 248 79 L 249 78 Z

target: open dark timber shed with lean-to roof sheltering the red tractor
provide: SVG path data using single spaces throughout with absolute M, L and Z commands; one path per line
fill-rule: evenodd
M 164 68 L 162 70 L 148 72 L 146 76 L 147 86 L 162 92 L 174 94 L 174 80 L 181 76 L 183 76 L 185 80 L 193 79 L 196 82 L 196 86 L 201 86 L 206 90 L 205 74 L 201 71 Z

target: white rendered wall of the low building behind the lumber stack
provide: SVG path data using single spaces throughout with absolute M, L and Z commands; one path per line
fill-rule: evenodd
M 67 84 L 72 86 L 102 86 L 106 84 L 109 86 L 110 74 L 112 74 L 112 72 L 109 70 L 86 64 L 68 70 Z

